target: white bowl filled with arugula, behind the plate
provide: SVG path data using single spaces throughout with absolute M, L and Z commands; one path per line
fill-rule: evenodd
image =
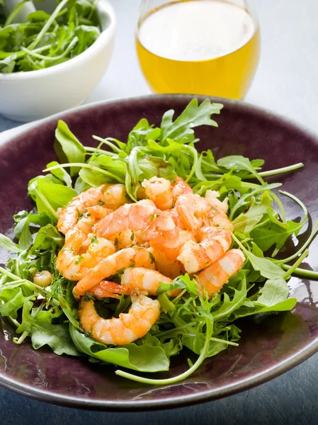
M 110 62 L 113 7 L 107 0 L 11 3 L 0 1 L 0 114 L 28 122 L 83 103 Z

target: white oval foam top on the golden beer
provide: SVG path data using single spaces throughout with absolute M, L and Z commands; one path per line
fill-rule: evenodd
M 198 61 L 228 55 L 244 46 L 256 25 L 244 8 L 217 0 L 168 4 L 141 23 L 139 40 L 154 55 Z

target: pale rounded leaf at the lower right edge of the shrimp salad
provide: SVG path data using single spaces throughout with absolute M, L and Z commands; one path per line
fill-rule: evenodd
M 288 284 L 283 278 L 275 278 L 266 280 L 265 285 L 259 291 L 261 296 L 255 301 L 255 305 L 264 305 L 272 307 L 273 305 L 283 302 L 288 297 Z

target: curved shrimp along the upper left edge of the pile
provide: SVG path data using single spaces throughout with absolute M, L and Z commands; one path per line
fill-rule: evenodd
M 118 208 L 127 202 L 123 184 L 103 184 L 98 188 L 90 188 L 73 198 L 66 207 L 59 211 L 57 229 L 66 234 L 79 221 L 79 217 L 87 208 L 95 205 L 105 205 L 105 208 Z

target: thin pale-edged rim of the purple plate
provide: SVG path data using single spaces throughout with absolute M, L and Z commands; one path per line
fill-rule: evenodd
M 203 95 L 193 95 L 193 94 L 148 94 L 143 96 L 130 96 L 130 97 L 120 97 L 120 98 L 112 98 L 108 100 L 96 101 L 93 103 L 87 103 L 82 106 L 77 106 L 76 108 L 71 108 L 67 111 L 62 111 L 60 113 L 56 113 L 55 115 L 51 115 L 50 117 L 44 118 L 39 122 L 35 122 L 33 125 L 30 125 L 26 130 L 22 130 L 18 132 L 16 135 L 12 135 L 12 137 L 8 137 L 6 140 L 0 140 L 0 147 L 4 147 L 6 144 L 12 142 L 16 138 L 21 135 L 27 135 L 28 132 L 32 132 L 35 128 L 41 127 L 41 125 L 45 125 L 50 121 L 57 120 L 59 118 L 67 119 L 67 115 L 76 113 L 77 111 L 90 110 L 93 108 L 98 108 L 99 106 L 111 105 L 111 103 L 126 103 L 130 101 L 149 101 L 151 98 L 165 99 L 167 101 L 174 101 L 174 99 L 188 99 L 191 101 L 192 98 L 198 98 L 198 101 L 203 101 L 206 98 L 209 98 L 210 101 L 223 103 L 225 107 L 227 105 L 239 105 L 245 111 L 254 113 L 258 113 L 260 115 L 267 115 L 268 118 L 273 120 L 279 120 L 281 123 L 292 127 L 293 129 L 302 132 L 307 135 L 313 141 L 315 141 L 318 145 L 318 134 L 314 132 L 314 130 L 307 128 L 302 123 L 297 123 L 295 120 L 291 120 L 285 118 L 283 115 L 271 111 L 267 108 L 261 108 L 259 106 L 255 106 L 252 103 L 235 101 L 227 98 L 220 98 L 214 96 L 203 96 Z M 173 106 L 171 106 L 173 108 Z M 19 382 L 18 380 L 14 380 L 13 378 L 8 378 L 8 376 L 4 375 L 4 373 L 0 370 L 0 385 L 4 387 L 6 390 L 11 390 L 17 392 L 20 395 L 30 397 L 33 399 L 37 399 L 40 402 L 47 402 L 50 404 L 58 404 L 60 406 L 65 407 L 73 407 L 77 409 L 91 409 L 91 410 L 99 410 L 99 411 L 108 411 L 108 412 L 140 412 L 140 411 L 149 411 L 149 410 L 158 410 L 158 409 L 175 409 L 178 407 L 186 407 L 193 404 L 210 402 L 215 399 L 220 399 L 223 397 L 228 397 L 229 395 L 237 394 L 238 392 L 242 392 L 244 390 L 249 390 L 257 385 L 261 385 L 269 380 L 282 375 L 295 368 L 295 366 L 299 365 L 303 361 L 310 358 L 318 351 L 318 337 L 314 339 L 310 344 L 301 348 L 299 351 L 286 358 L 284 361 L 278 363 L 278 365 L 274 365 L 271 368 L 263 370 L 262 372 L 254 375 L 252 378 L 244 378 L 239 382 L 234 384 L 226 385 L 222 388 L 222 390 L 211 389 L 208 391 L 199 392 L 193 395 L 183 395 L 178 397 L 167 397 L 166 399 L 160 399 L 157 401 L 153 400 L 134 400 L 129 402 L 121 402 L 121 401 L 105 401 L 102 399 L 89 399 L 84 397 L 72 397 L 70 395 L 57 394 L 55 392 L 47 392 L 44 390 L 40 390 L 37 387 L 32 387 L 30 385 L 26 385 L 23 382 Z M 174 385 L 180 385 L 180 383 L 176 383 Z M 172 386 L 174 386 L 172 385 Z M 149 388 L 152 386 L 149 385 Z

